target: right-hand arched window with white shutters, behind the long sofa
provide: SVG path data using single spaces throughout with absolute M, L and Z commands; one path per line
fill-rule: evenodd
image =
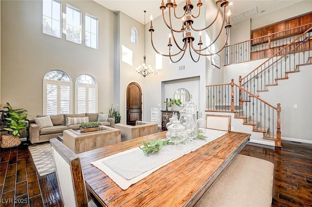
M 76 79 L 76 113 L 98 112 L 98 84 L 91 75 L 79 75 Z

